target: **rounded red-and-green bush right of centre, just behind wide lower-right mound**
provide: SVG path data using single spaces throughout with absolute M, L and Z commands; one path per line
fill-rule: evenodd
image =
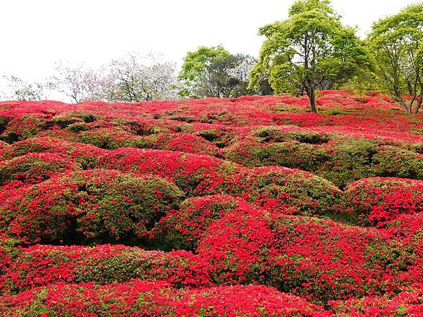
M 341 190 L 303 170 L 269 166 L 240 174 L 234 192 L 269 211 L 305 216 L 342 216 Z

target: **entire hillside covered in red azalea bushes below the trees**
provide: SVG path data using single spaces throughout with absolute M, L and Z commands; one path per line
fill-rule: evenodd
M 1 316 L 423 316 L 423 115 L 322 91 L 0 103 Z

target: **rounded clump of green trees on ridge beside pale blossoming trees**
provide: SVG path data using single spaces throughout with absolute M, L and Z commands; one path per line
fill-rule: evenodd
M 249 73 L 256 60 L 230 54 L 223 46 L 200 46 L 188 52 L 178 76 L 181 97 L 239 97 L 248 94 Z

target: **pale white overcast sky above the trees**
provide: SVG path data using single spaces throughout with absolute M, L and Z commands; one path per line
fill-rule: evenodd
M 333 0 L 345 24 L 369 31 L 408 0 Z M 283 20 L 293 0 L 0 0 L 0 75 L 37 80 L 54 61 L 97 66 L 125 52 L 161 52 L 180 63 L 200 45 L 257 56 L 260 26 Z

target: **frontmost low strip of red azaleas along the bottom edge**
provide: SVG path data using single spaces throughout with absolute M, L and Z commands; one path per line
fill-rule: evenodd
M 2 316 L 331 316 L 265 286 L 176 291 L 166 282 L 57 284 L 0 297 Z

